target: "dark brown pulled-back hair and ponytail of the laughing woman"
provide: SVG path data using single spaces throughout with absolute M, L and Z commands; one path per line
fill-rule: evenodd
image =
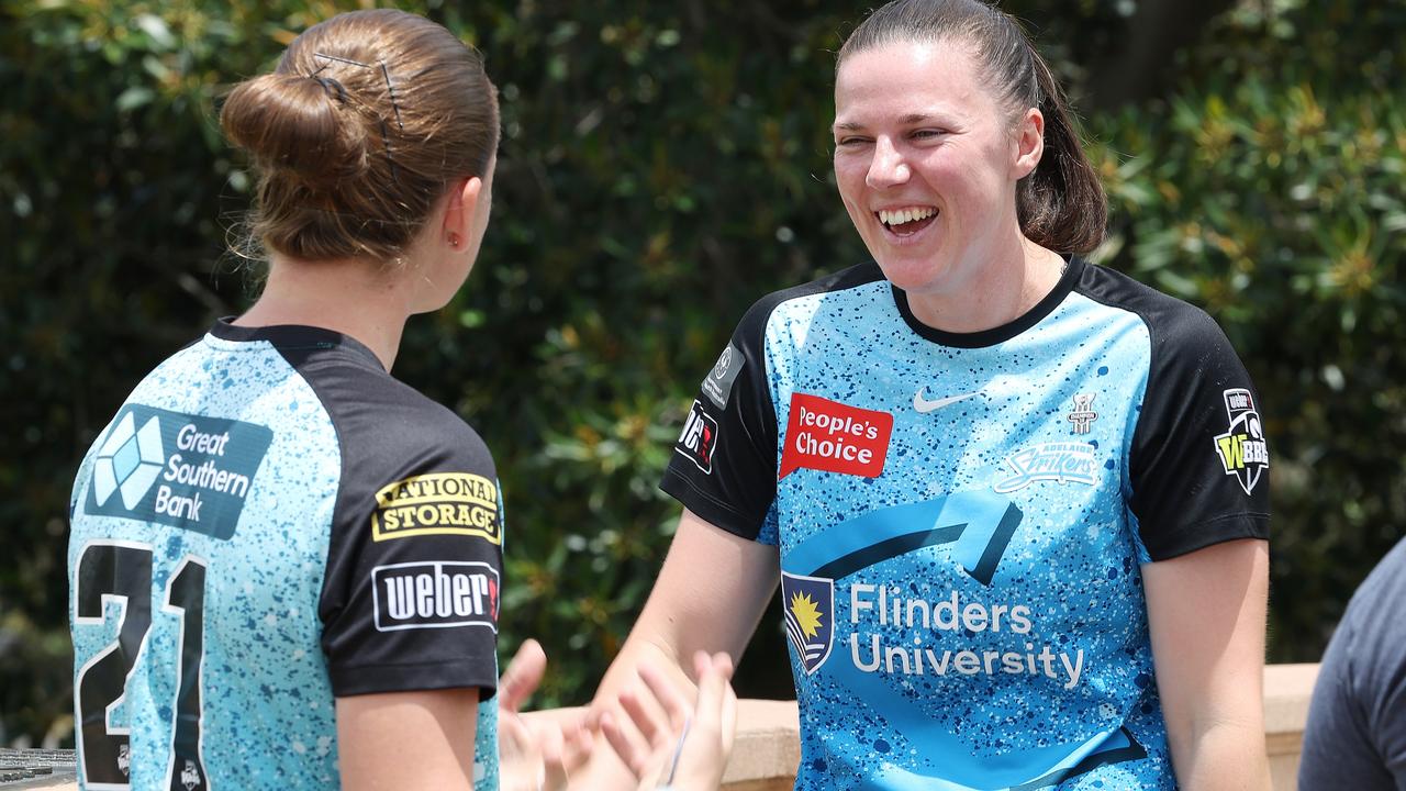
M 1012 114 L 1039 107 L 1045 155 L 1021 179 L 1015 208 L 1021 232 L 1060 253 L 1087 253 L 1104 241 L 1108 200 L 1088 163 L 1074 114 L 1054 75 L 1019 23 L 981 0 L 894 0 L 869 15 L 839 48 L 855 52 L 897 41 L 962 41 Z

